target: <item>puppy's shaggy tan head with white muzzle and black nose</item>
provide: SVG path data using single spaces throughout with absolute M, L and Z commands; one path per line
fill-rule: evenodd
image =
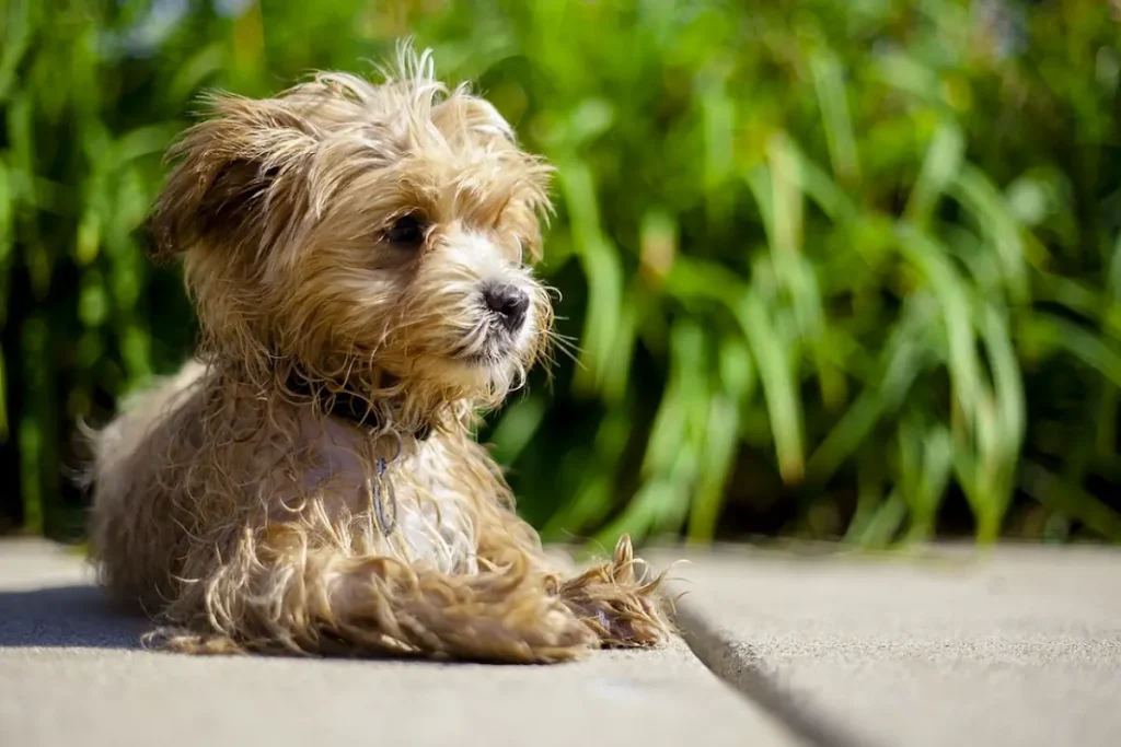
M 550 169 L 491 104 L 407 47 L 379 85 L 322 74 L 210 103 L 151 228 L 214 353 L 475 401 L 525 376 L 552 320 L 529 269 Z

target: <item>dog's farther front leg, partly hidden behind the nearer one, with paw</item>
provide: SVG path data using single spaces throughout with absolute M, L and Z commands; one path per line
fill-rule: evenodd
M 634 558 L 629 536 L 615 545 L 610 562 L 593 566 L 583 573 L 559 580 L 558 563 L 541 551 L 537 533 L 511 511 L 489 526 L 498 526 L 480 536 L 479 554 L 498 564 L 525 558 L 535 564 L 572 613 L 593 629 L 600 645 L 645 647 L 666 643 L 673 631 L 661 594 L 661 577 L 648 577 L 646 564 Z

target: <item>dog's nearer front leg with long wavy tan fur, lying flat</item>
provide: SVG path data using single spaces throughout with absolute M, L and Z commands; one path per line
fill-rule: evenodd
M 549 663 L 595 645 L 592 629 L 546 592 L 528 563 L 445 575 L 309 548 L 296 535 L 220 569 L 203 591 L 205 615 L 188 625 L 209 633 L 167 635 L 164 647 Z

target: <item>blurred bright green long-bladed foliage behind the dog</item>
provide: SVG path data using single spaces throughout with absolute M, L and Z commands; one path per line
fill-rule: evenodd
M 139 231 L 197 94 L 401 35 L 558 167 L 578 362 L 482 435 L 549 539 L 1121 538 L 1104 0 L 0 0 L 0 506 L 193 339 Z

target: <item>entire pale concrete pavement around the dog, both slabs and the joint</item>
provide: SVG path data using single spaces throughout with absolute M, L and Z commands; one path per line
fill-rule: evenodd
M 540 667 L 145 652 L 76 555 L 0 542 L 0 745 L 1121 744 L 1117 551 L 643 553 L 683 554 L 696 656 Z

